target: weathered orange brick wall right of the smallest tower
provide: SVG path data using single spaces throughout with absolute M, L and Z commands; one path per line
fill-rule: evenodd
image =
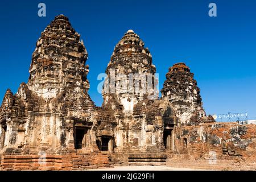
M 224 136 L 228 147 L 236 150 L 243 159 L 256 160 L 256 125 L 239 125 L 236 122 L 177 127 L 175 152 L 187 154 L 193 159 L 208 159 L 209 152 L 216 152 L 217 159 L 230 159 L 232 156 L 222 154 Z

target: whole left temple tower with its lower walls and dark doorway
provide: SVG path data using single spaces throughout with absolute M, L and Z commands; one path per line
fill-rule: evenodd
M 95 106 L 88 95 L 87 51 L 69 19 L 58 15 L 42 32 L 28 83 L 7 90 L 0 107 L 2 152 L 60 154 L 96 146 Z M 94 140 L 93 140 L 94 139 Z

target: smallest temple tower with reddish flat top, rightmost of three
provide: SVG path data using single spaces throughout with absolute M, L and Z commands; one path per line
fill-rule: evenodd
M 187 125 L 199 121 L 206 116 L 203 109 L 200 89 L 194 74 L 184 63 L 176 63 L 166 74 L 162 92 L 163 98 L 174 106 L 176 117 L 179 118 L 181 125 Z

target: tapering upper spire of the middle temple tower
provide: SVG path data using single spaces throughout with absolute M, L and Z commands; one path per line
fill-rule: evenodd
M 114 96 L 125 113 L 132 113 L 139 101 L 157 98 L 155 72 L 150 51 L 133 30 L 128 30 L 115 46 L 106 68 L 108 78 L 102 93 L 103 105 L 111 104 L 109 100 Z

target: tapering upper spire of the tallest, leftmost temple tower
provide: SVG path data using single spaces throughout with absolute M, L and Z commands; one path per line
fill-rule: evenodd
M 80 89 L 87 92 L 87 57 L 80 34 L 72 28 L 68 18 L 64 15 L 56 16 L 36 43 L 28 88 L 46 100 L 55 98 L 69 88 L 76 88 L 73 91 L 77 93 Z

